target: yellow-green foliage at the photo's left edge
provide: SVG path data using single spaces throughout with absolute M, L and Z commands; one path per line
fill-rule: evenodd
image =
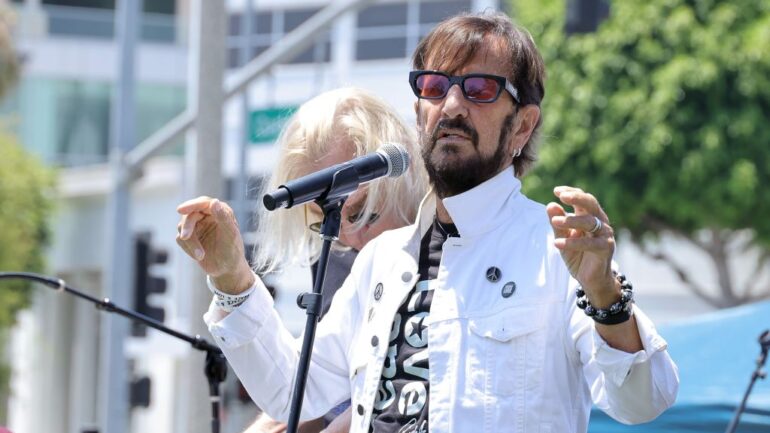
M 43 246 L 48 238 L 48 217 L 53 177 L 0 132 L 0 270 L 43 270 Z M 0 328 L 10 326 L 15 313 L 28 305 L 29 284 L 0 284 Z

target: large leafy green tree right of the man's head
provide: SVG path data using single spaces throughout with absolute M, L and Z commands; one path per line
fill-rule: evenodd
M 770 2 L 610 8 L 596 32 L 568 37 L 564 0 L 512 2 L 548 68 L 544 140 L 528 194 L 552 200 L 557 184 L 595 193 L 614 227 L 711 305 L 767 298 Z M 702 251 L 713 284 L 702 286 L 656 249 L 651 241 L 663 234 Z M 730 266 L 743 251 L 758 257 L 752 275 Z

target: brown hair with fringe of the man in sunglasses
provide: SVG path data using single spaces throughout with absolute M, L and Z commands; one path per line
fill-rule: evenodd
M 414 69 L 454 73 L 490 45 L 502 43 L 508 53 L 508 80 L 519 91 L 521 105 L 540 106 L 545 96 L 543 58 L 525 29 L 515 26 L 501 12 L 464 13 L 441 22 L 417 45 L 412 57 Z M 536 143 L 543 123 L 542 113 L 521 155 L 514 158 L 517 176 L 523 176 L 537 159 Z

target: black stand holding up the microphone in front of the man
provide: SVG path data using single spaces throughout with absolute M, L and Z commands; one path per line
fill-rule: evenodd
M 321 308 L 323 305 L 321 288 L 323 287 L 324 279 L 326 278 L 326 265 L 329 263 L 329 251 L 331 250 L 332 242 L 337 240 L 337 237 L 340 234 L 341 211 L 342 206 L 345 204 L 346 197 L 347 196 L 316 200 L 316 203 L 321 206 L 324 213 L 324 220 L 321 224 L 323 245 L 321 246 L 321 256 L 318 258 L 318 270 L 316 271 L 315 281 L 313 282 L 313 292 L 303 293 L 297 298 L 299 307 L 307 310 L 307 321 L 305 322 L 302 350 L 299 354 L 299 364 L 297 365 L 297 374 L 294 380 L 294 391 L 291 396 L 288 433 L 297 433 L 297 427 L 299 425 L 299 415 L 300 412 L 302 412 L 302 400 L 305 395 L 305 384 L 307 383 L 308 369 L 310 367 L 310 355 L 313 351 L 316 326 L 321 317 Z

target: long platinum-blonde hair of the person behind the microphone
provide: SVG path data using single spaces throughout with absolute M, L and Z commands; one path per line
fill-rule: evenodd
M 411 159 L 408 171 L 401 177 L 367 184 L 362 216 L 353 229 L 362 228 L 372 213 L 394 215 L 401 225 L 412 223 L 428 185 L 413 128 L 385 101 L 359 88 L 331 90 L 302 104 L 278 138 L 280 157 L 264 191 L 308 174 L 318 160 L 343 141 L 340 138 L 353 145 L 353 157 L 391 142 L 402 144 Z M 273 212 L 259 206 L 253 263 L 257 272 L 270 272 L 287 264 L 308 265 L 318 259 L 321 239 L 305 227 L 304 212 L 303 205 Z

